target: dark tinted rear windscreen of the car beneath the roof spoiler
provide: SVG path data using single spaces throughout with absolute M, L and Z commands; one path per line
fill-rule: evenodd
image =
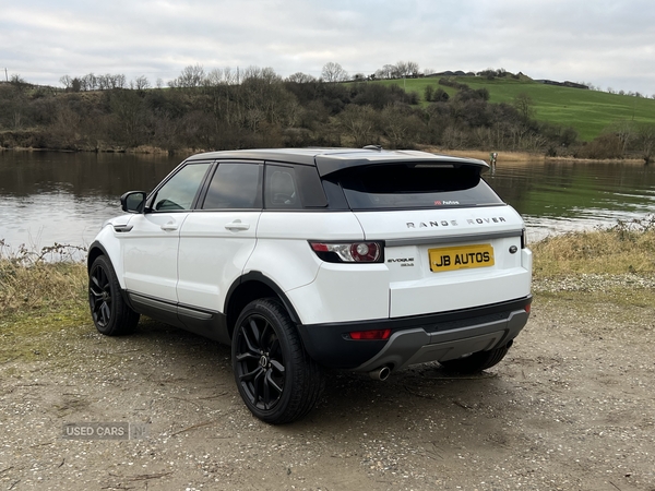
M 329 177 L 341 184 L 352 209 L 489 206 L 502 200 L 480 168 L 412 164 L 356 167 Z

